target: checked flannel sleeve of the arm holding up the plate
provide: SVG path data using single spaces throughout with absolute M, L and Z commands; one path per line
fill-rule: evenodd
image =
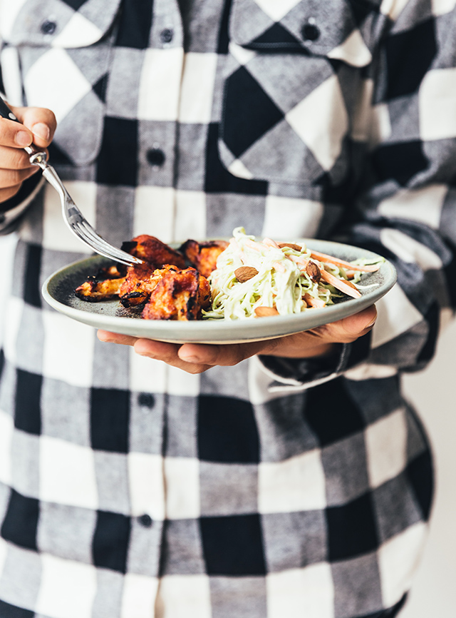
M 329 359 L 261 357 L 271 388 L 302 389 L 420 370 L 456 305 L 456 9 L 391 0 L 373 22 L 353 119 L 351 178 L 328 188 L 343 203 L 331 240 L 390 260 L 398 283 L 377 303 L 371 333 Z

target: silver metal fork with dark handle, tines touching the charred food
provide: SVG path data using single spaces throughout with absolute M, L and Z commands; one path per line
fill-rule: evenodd
M 0 116 L 20 123 L 1 96 Z M 71 198 L 65 186 L 63 186 L 56 170 L 48 164 L 46 152 L 38 151 L 34 146 L 26 146 L 24 150 L 30 157 L 31 165 L 40 167 L 43 171 L 44 178 L 56 189 L 61 200 L 63 218 L 73 234 L 76 234 L 76 236 L 78 236 L 83 243 L 86 243 L 86 245 L 92 248 L 95 253 L 104 255 L 105 258 L 110 258 L 116 262 L 127 265 L 142 264 L 140 258 L 136 258 L 135 255 L 130 255 L 130 253 L 126 253 L 126 251 L 110 245 L 110 243 L 95 232 L 78 206 L 76 206 L 76 203 L 74 203 L 73 198 Z

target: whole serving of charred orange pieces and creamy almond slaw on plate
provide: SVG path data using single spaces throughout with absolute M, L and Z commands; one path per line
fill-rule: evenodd
M 346 262 L 302 243 L 256 240 L 244 228 L 233 238 L 187 240 L 178 250 L 149 235 L 123 243 L 140 265 L 101 268 L 76 288 L 89 302 L 119 299 L 146 320 L 229 320 L 290 315 L 361 296 L 363 273 L 383 258 Z

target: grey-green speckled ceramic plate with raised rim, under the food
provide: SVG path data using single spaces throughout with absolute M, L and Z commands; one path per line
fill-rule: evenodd
M 351 245 L 333 243 L 327 240 L 300 239 L 296 242 L 321 253 L 328 253 L 343 260 L 380 258 L 377 253 Z M 172 243 L 178 247 L 180 244 Z M 53 273 L 43 284 L 43 297 L 54 309 L 94 328 L 110 330 L 113 333 L 132 335 L 147 339 L 168 341 L 170 343 L 242 343 L 261 341 L 299 333 L 323 324 L 335 322 L 348 315 L 358 313 L 375 303 L 395 284 L 397 275 L 394 266 L 385 261 L 375 273 L 363 273 L 361 298 L 343 298 L 335 305 L 322 309 L 307 309 L 293 315 L 273 315 L 267 318 L 247 318 L 245 320 L 197 320 L 177 322 L 174 320 L 142 320 L 140 313 L 123 308 L 119 300 L 88 303 L 77 298 L 74 290 L 112 261 L 95 255 L 70 264 Z

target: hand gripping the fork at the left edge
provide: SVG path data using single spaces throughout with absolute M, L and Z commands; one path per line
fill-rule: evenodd
M 46 150 L 56 131 L 56 116 L 50 109 L 13 107 L 21 124 L 0 118 L 0 203 L 16 195 L 21 184 L 39 168 L 32 166 L 24 146 Z

